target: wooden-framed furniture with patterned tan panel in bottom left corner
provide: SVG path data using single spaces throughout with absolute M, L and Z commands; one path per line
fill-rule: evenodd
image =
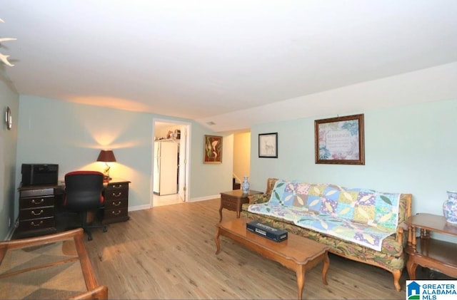
M 0 242 L 0 299 L 107 299 L 83 229 Z

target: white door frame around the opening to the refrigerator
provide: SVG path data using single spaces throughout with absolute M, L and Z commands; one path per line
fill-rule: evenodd
M 190 155 L 190 149 L 191 149 L 191 123 L 189 122 L 183 122 L 183 121 L 179 121 L 179 120 L 173 120 L 173 119 L 167 119 L 167 118 L 153 118 L 152 119 L 152 153 L 151 153 L 151 157 L 153 157 L 152 159 L 152 164 L 151 164 L 151 188 L 150 188 L 150 194 L 151 194 L 151 199 L 149 200 L 149 205 L 151 207 L 154 207 L 154 143 L 155 143 L 155 140 L 154 140 L 154 134 L 156 133 L 156 123 L 169 123 L 169 124 L 176 124 L 176 125 L 179 125 L 180 127 L 184 127 L 186 128 L 186 132 L 183 133 L 182 130 L 181 130 L 181 142 L 182 143 L 184 141 L 184 143 L 186 143 L 186 146 L 185 146 L 185 155 L 184 155 L 184 167 L 181 166 L 181 164 L 179 165 L 179 177 L 181 177 L 181 172 L 184 172 L 184 182 L 179 182 L 179 190 L 178 190 L 178 194 L 179 195 L 184 195 L 184 199 L 182 199 L 181 197 L 181 200 L 183 200 L 184 202 L 188 202 L 189 201 L 189 195 L 190 195 L 190 189 L 189 189 L 189 177 L 190 177 L 190 168 L 189 168 L 189 165 L 190 165 L 190 162 L 191 162 L 191 155 Z M 180 155 L 182 155 L 183 153 L 180 153 Z M 184 185 L 183 185 L 184 183 Z M 183 189 L 184 192 L 183 192 Z M 182 193 L 181 193 L 182 192 Z

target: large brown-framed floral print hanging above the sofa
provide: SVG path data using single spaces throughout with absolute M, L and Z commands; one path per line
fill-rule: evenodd
M 314 121 L 316 164 L 365 165 L 363 114 Z

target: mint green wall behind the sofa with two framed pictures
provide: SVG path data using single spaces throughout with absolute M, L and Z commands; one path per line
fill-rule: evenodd
M 357 111 L 365 119 L 365 165 L 316 165 L 314 120 L 251 128 L 251 188 L 268 177 L 328 182 L 413 194 L 413 213 L 443 214 L 446 190 L 457 190 L 457 100 Z M 278 132 L 278 159 L 258 158 L 258 134 Z

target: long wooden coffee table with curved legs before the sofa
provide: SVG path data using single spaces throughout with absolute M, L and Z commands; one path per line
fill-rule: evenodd
M 316 264 L 323 262 L 322 281 L 327 284 L 327 271 L 330 265 L 328 259 L 329 247 L 314 242 L 306 237 L 300 237 L 288 232 L 288 239 L 283 242 L 273 242 L 266 237 L 261 237 L 246 229 L 249 219 L 233 219 L 228 222 L 216 224 L 216 254 L 221 250 L 219 236 L 224 235 L 235 242 L 261 254 L 263 257 L 282 264 L 284 267 L 296 272 L 298 299 L 301 299 L 305 286 L 305 271 Z

